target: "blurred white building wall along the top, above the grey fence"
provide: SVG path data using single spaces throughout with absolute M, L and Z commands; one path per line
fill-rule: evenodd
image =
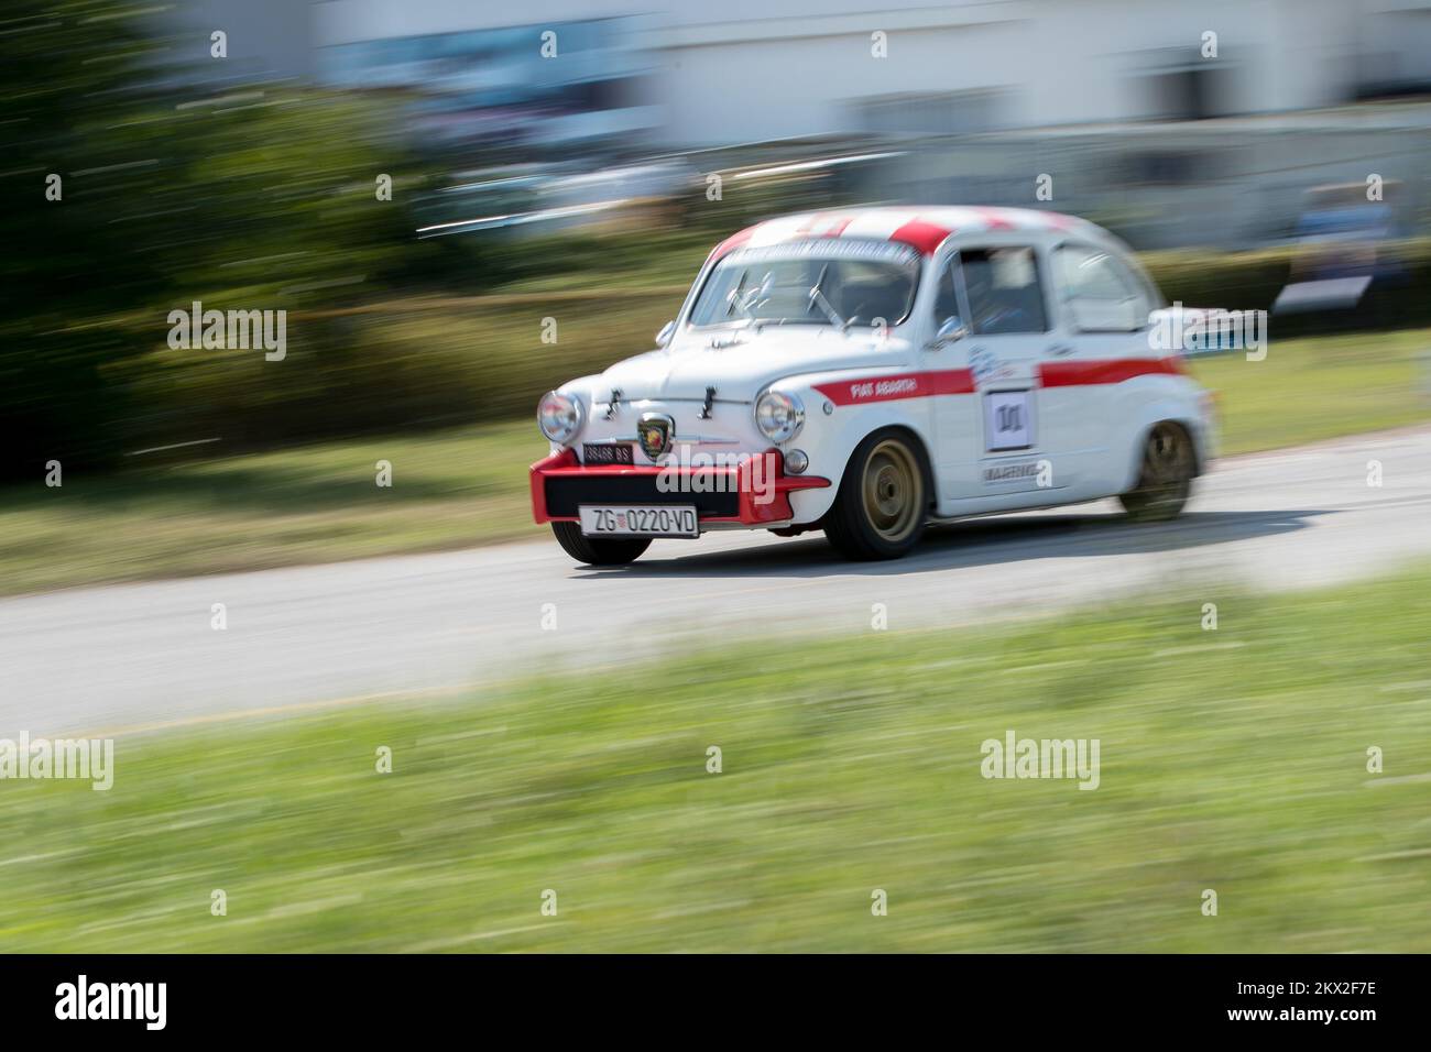
M 529 27 L 535 52 L 605 17 L 651 62 L 631 102 L 660 106 L 668 145 L 1279 113 L 1431 84 L 1431 0 L 328 0 L 312 43 Z

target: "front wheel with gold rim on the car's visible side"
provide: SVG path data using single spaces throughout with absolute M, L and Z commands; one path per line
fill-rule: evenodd
M 919 441 L 897 428 L 869 435 L 844 465 L 824 535 L 849 560 L 899 558 L 929 518 L 929 467 Z

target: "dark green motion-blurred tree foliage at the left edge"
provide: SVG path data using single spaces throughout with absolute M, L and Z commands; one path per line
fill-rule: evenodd
M 381 99 L 210 90 L 166 62 L 179 49 L 153 19 L 122 0 L 7 9 L 0 478 L 209 437 L 206 395 L 233 384 L 249 408 L 331 414 L 349 344 L 331 322 L 290 323 L 278 374 L 252 351 L 167 351 L 169 311 L 342 305 L 431 273 L 441 252 L 412 238 L 422 176 Z

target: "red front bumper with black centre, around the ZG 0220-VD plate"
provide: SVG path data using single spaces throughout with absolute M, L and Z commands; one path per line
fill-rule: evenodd
M 564 485 L 581 481 L 582 492 L 591 494 L 582 504 L 690 504 L 691 494 L 723 494 L 718 501 L 721 508 L 713 510 L 713 501 L 701 510 L 701 524 L 736 522 L 740 525 L 760 527 L 774 522 L 788 522 L 794 517 L 790 508 L 790 492 L 794 490 L 823 490 L 830 485 L 829 478 L 819 475 L 787 475 L 786 461 L 778 449 L 767 449 L 761 454 L 761 468 L 754 467 L 754 459 L 747 459 L 737 467 L 721 468 L 693 468 L 657 465 L 601 465 L 582 467 L 577 462 L 577 452 L 565 448 L 547 459 L 537 461 L 531 468 L 532 488 L 532 518 L 538 522 L 575 522 L 577 511 L 571 505 L 571 487 Z M 675 477 L 675 485 L 670 492 L 660 492 L 655 479 L 661 474 L 670 472 Z M 693 479 L 701 477 L 693 485 Z M 602 497 L 601 479 L 618 479 L 612 487 L 611 497 Z M 552 508 L 548 502 L 548 482 L 558 482 L 564 490 L 562 500 L 568 507 Z M 614 490 L 620 487 L 620 494 Z M 700 488 L 697 488 L 700 487 Z M 647 492 L 650 491 L 650 492 Z M 700 505 L 700 500 L 697 504 Z

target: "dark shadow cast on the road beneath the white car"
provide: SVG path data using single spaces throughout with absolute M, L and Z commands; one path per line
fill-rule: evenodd
M 1025 558 L 1126 555 L 1179 551 L 1305 530 L 1309 520 L 1335 514 L 1329 508 L 1288 511 L 1189 511 L 1172 522 L 1129 522 L 1118 512 L 1047 512 L 970 518 L 929 527 L 919 547 L 902 560 L 847 562 L 819 532 L 777 542 L 751 538 L 748 548 L 691 552 L 647 552 L 628 567 L 581 567 L 574 577 L 787 577 L 913 574 L 950 567 L 1016 562 Z M 767 535 L 768 537 L 768 535 Z M 774 540 L 774 538 L 770 538 Z

